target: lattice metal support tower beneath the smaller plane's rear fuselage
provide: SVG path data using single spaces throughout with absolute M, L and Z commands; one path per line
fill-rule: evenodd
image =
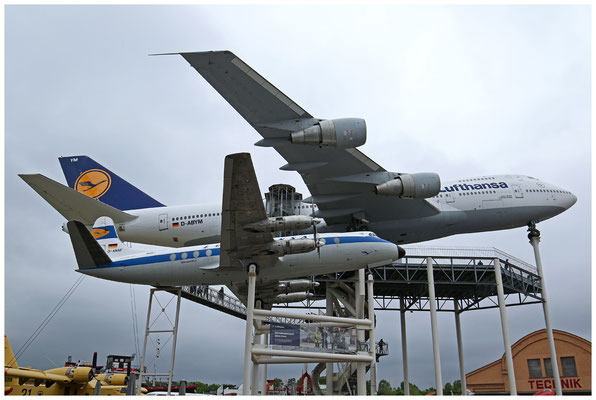
M 153 320 L 153 322 L 151 321 L 151 308 L 153 305 L 153 299 L 155 297 L 155 292 L 175 293 L 175 296 L 177 298 L 176 317 L 174 318 L 174 323 L 173 323 L 172 329 L 152 329 L 153 324 L 157 320 L 157 318 L 156 318 L 155 320 Z M 175 356 L 176 356 L 176 340 L 178 338 L 178 320 L 179 320 L 179 316 L 180 316 L 180 300 L 181 299 L 182 299 L 182 288 L 180 288 L 180 287 L 150 289 L 149 306 L 147 307 L 147 323 L 145 325 L 145 340 L 143 342 L 143 356 L 141 357 L 141 367 L 140 367 L 140 371 L 139 371 L 139 385 L 137 387 L 138 390 L 140 390 L 141 383 L 143 382 L 143 376 L 167 376 L 168 377 L 168 395 L 172 391 L 172 378 L 174 375 L 174 360 L 175 360 Z M 158 303 L 159 303 L 159 300 L 158 300 Z M 160 314 L 158 314 L 158 317 L 161 315 L 161 313 L 165 314 L 167 306 L 168 305 L 166 305 L 165 307 L 162 307 Z M 168 318 L 168 320 L 171 322 L 171 320 L 169 318 Z M 149 335 L 155 334 L 155 333 L 171 333 L 172 334 L 172 354 L 170 357 L 170 370 L 167 373 L 165 373 L 165 372 L 154 372 L 154 373 L 146 372 L 145 357 L 147 354 L 147 339 L 149 339 Z M 140 394 L 140 393 L 137 392 L 137 394 Z

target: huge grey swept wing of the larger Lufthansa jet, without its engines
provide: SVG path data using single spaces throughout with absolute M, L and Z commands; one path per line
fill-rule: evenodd
M 280 169 L 297 171 L 327 225 L 420 218 L 440 211 L 426 199 L 379 196 L 374 186 L 393 179 L 356 148 L 291 144 L 292 132 L 311 127 L 313 118 L 234 53 L 179 53 L 287 161 Z

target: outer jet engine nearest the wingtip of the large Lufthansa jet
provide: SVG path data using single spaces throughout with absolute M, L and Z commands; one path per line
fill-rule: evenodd
M 360 118 L 327 119 L 292 133 L 292 144 L 350 149 L 366 143 L 366 122 Z

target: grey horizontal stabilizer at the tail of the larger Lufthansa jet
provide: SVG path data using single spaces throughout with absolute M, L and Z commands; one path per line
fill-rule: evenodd
M 93 225 L 99 217 L 108 216 L 118 224 L 137 218 L 44 175 L 20 174 L 19 176 L 68 221 L 77 220 L 85 225 Z

